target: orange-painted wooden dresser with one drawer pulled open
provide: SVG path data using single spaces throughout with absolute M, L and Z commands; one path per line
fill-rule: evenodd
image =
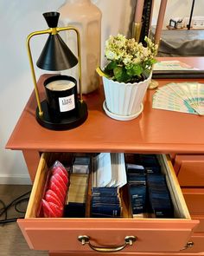
M 203 64 L 204 60 L 192 58 L 186 62 Z M 48 75 L 42 75 L 38 82 L 41 100 L 44 98 L 41 83 L 46 77 Z M 193 81 L 204 82 L 204 79 Z M 171 80 L 158 82 L 162 86 Z M 30 96 L 6 148 L 22 151 L 34 181 L 25 219 L 18 220 L 31 249 L 48 250 L 52 256 L 99 255 L 95 250 L 99 251 L 101 247 L 110 251 L 112 247 L 124 248 L 113 255 L 204 255 L 203 117 L 153 109 L 153 93 L 147 92 L 143 113 L 137 119 L 115 121 L 105 115 L 103 89 L 99 89 L 85 97 L 88 105 L 86 122 L 61 132 L 42 128 L 37 123 L 35 96 Z M 37 212 L 49 155 L 55 152 L 158 154 L 169 177 L 175 219 L 131 219 L 128 216 L 119 219 L 39 218 Z M 169 154 L 175 155 L 172 159 L 174 167 Z M 84 235 L 90 238 L 89 244 L 79 240 Z M 134 236 L 136 241 L 130 242 L 128 238 L 126 243 L 127 236 Z

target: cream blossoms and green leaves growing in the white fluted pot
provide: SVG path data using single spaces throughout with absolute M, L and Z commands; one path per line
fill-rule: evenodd
M 143 43 L 137 43 L 134 38 L 127 39 L 121 34 L 109 36 L 105 42 L 105 56 L 110 63 L 105 68 L 105 74 L 118 82 L 143 79 L 150 73 L 157 52 L 157 45 L 152 43 L 148 37 L 145 38 L 145 42 L 146 47 Z M 116 67 L 124 69 L 118 69 L 115 73 Z

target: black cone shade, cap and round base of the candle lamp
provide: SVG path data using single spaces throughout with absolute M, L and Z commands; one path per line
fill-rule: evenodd
M 56 28 L 60 13 L 48 12 L 44 13 L 49 28 Z M 58 33 L 51 33 L 48 36 L 47 43 L 42 49 L 36 65 L 40 69 L 50 71 L 71 69 L 78 63 L 78 59 L 73 55 L 73 52 L 67 47 L 67 44 L 61 39 Z M 78 127 L 86 121 L 87 106 L 86 103 L 79 99 L 75 103 L 74 114 L 53 115 L 49 111 L 47 100 L 41 102 L 43 115 L 39 115 L 39 109 L 36 109 L 36 119 L 41 126 L 54 130 L 66 130 L 69 128 Z

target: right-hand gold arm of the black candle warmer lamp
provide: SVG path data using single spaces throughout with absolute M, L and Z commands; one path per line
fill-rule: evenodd
M 82 98 L 82 88 L 81 88 L 81 53 L 80 53 L 80 32 L 74 27 L 64 27 L 64 28 L 56 28 L 57 32 L 65 31 L 65 30 L 74 30 L 77 35 L 77 54 L 78 54 L 78 62 L 79 62 L 79 84 L 80 84 L 80 102 L 83 102 Z

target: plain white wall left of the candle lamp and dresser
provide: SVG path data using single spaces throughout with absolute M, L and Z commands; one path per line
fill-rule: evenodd
M 55 10 L 61 3 L 63 0 L 0 1 L 0 183 L 29 182 L 22 154 L 5 150 L 4 146 L 33 89 L 25 47 L 26 37 L 32 31 L 46 28 L 41 13 Z

